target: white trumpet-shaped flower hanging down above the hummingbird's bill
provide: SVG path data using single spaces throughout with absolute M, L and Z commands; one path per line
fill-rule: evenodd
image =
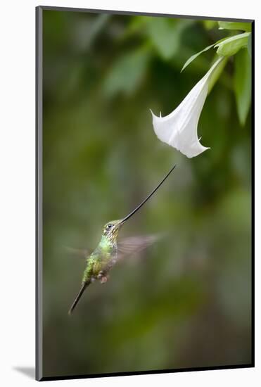
M 198 156 L 209 148 L 198 139 L 198 120 L 208 94 L 210 75 L 222 61 L 219 58 L 204 77 L 189 91 L 182 103 L 165 117 L 153 114 L 153 129 L 158 138 L 182 152 L 188 158 Z

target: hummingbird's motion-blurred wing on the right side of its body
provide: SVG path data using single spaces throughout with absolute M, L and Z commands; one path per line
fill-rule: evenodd
M 160 239 L 160 235 L 129 236 L 117 242 L 117 260 L 140 253 Z

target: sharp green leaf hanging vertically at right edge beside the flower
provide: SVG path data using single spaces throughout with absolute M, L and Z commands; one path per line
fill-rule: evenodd
M 251 101 L 251 61 L 247 49 L 239 51 L 235 56 L 234 91 L 238 118 L 243 126 Z

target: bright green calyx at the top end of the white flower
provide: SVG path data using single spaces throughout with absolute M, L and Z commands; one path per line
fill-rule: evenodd
M 248 37 L 250 32 L 244 32 L 243 34 L 235 35 L 224 39 L 215 45 L 217 47 L 217 54 L 219 56 L 231 56 L 237 53 L 240 49 L 243 49 L 248 45 Z

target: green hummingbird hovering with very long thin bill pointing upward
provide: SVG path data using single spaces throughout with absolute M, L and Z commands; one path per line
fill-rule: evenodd
M 176 165 L 174 165 L 176 167 Z M 96 249 L 90 254 L 87 255 L 87 250 L 84 250 L 84 255 L 86 258 L 86 267 L 84 269 L 84 274 L 82 276 L 82 286 L 79 289 L 70 310 L 69 315 L 72 314 L 75 309 L 79 299 L 82 297 L 86 288 L 97 279 L 101 281 L 101 284 L 105 284 L 108 279 L 108 272 L 115 265 L 115 263 L 120 260 L 120 258 L 125 257 L 132 253 L 137 253 L 144 248 L 150 246 L 154 243 L 158 236 L 147 235 L 147 236 L 131 236 L 125 238 L 122 241 L 117 241 L 117 236 L 123 224 L 130 217 L 132 217 L 145 203 L 148 201 L 155 191 L 157 191 L 160 186 L 165 182 L 170 173 L 174 170 L 174 167 L 165 175 L 161 182 L 151 191 L 144 201 L 142 201 L 129 215 L 125 216 L 120 220 L 111 220 L 106 223 L 103 227 L 103 232 L 101 235 L 101 241 L 98 243 Z

